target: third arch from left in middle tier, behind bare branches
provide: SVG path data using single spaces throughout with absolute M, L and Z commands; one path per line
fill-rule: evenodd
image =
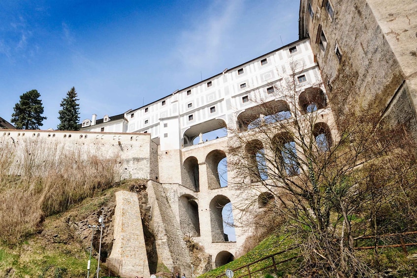
M 265 159 L 265 150 L 262 142 L 258 139 L 249 141 L 245 146 L 245 151 L 249 155 L 250 169 L 253 169 L 251 173 L 251 181 L 267 180 L 267 166 Z

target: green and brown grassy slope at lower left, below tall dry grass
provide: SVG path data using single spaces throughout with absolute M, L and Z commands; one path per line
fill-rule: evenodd
M 74 231 L 68 229 L 67 219 L 81 220 L 94 214 L 113 198 L 120 187 L 113 187 L 85 199 L 68 211 L 47 217 L 42 232 L 15 246 L 0 245 L 0 277 L 22 278 L 78 278 L 87 277 L 90 252 L 89 239 L 81 242 Z M 87 246 L 88 245 L 88 246 Z M 97 261 L 92 258 L 92 274 Z M 102 271 L 104 276 L 104 270 Z

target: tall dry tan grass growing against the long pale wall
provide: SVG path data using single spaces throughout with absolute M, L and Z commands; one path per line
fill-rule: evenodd
M 35 232 L 45 216 L 66 210 L 114 184 L 116 156 L 83 146 L 1 143 L 0 239 L 14 244 Z

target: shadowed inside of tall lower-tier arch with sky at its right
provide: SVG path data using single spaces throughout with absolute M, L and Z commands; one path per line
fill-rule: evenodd
M 230 203 L 229 198 L 225 195 L 217 195 L 209 205 L 210 209 L 210 223 L 211 223 L 211 238 L 212 242 L 227 242 L 228 236 L 225 234 L 223 228 L 223 208 Z

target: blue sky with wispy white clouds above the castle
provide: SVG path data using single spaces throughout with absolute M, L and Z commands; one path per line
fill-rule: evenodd
M 0 117 L 32 89 L 42 129 L 57 127 L 71 87 L 81 121 L 138 108 L 297 40 L 298 10 L 298 0 L 1 0 Z

